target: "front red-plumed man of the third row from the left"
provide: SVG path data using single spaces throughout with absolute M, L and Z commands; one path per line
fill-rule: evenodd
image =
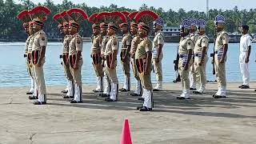
M 119 48 L 118 38 L 116 38 L 116 32 L 118 30 L 118 24 L 126 22 L 126 17 L 120 12 L 112 12 L 110 14 L 113 22 L 110 22 L 107 29 L 107 35 L 110 37 L 106 43 L 106 49 L 104 52 L 106 74 L 111 81 L 110 97 L 106 98 L 106 102 L 117 102 L 118 100 L 118 76 L 116 72 L 117 66 L 117 54 Z

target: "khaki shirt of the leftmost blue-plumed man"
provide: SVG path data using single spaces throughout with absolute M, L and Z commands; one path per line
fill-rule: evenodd
M 162 32 L 159 30 L 154 37 L 153 40 L 153 52 L 152 52 L 152 56 L 153 58 L 158 58 L 158 45 L 162 45 L 164 44 L 164 35 L 162 34 Z M 162 52 L 160 54 L 162 56 Z

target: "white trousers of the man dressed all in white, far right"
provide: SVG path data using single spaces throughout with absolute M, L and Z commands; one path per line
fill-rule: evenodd
M 249 63 L 246 63 L 247 52 L 241 52 L 239 55 L 239 64 L 242 74 L 243 85 L 249 86 L 250 82 L 250 72 L 249 72 Z

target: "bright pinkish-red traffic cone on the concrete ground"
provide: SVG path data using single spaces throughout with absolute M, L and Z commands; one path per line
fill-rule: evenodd
M 123 122 L 120 144 L 132 144 L 128 119 Z

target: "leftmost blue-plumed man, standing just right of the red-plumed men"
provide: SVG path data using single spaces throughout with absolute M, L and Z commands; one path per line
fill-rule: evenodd
M 164 45 L 164 35 L 162 34 L 162 26 L 164 21 L 162 18 L 158 18 L 154 22 L 154 40 L 153 40 L 153 52 L 152 62 L 154 67 L 154 73 L 156 74 L 157 86 L 153 91 L 162 90 L 162 47 Z

